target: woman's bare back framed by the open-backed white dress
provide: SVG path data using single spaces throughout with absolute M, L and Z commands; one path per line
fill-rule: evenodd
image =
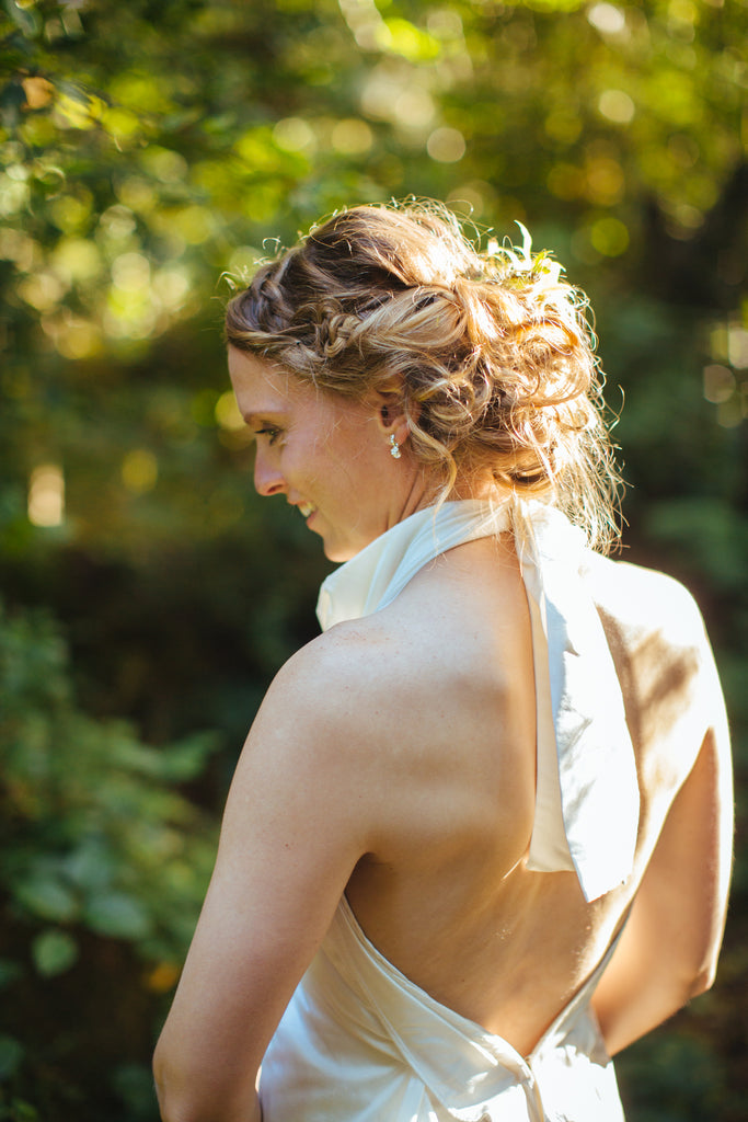
M 525 863 L 535 692 L 511 546 L 481 540 L 450 551 L 388 609 L 334 636 L 353 662 L 359 644 L 367 650 L 373 687 L 361 690 L 362 727 L 381 732 L 385 711 L 391 729 L 372 745 L 380 837 L 355 867 L 349 901 L 404 974 L 523 1054 L 602 957 L 719 720 L 711 654 L 689 594 L 604 559 L 594 559 L 589 581 L 624 691 L 641 798 L 635 874 L 590 904 L 573 873 Z

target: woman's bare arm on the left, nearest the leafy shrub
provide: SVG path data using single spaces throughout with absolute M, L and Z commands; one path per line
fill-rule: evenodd
M 367 849 L 358 745 L 376 716 L 339 662 L 299 652 L 250 730 L 154 1058 L 165 1122 L 259 1122 L 265 1049 Z

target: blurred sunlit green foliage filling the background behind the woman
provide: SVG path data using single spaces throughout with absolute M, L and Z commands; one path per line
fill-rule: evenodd
M 747 17 L 3 0 L 0 1119 L 157 1116 L 225 787 L 327 571 L 252 494 L 222 277 L 336 206 L 520 220 L 590 293 L 626 557 L 702 606 L 745 822 Z M 746 875 L 739 834 L 717 986 L 620 1059 L 632 1122 L 745 1116 Z

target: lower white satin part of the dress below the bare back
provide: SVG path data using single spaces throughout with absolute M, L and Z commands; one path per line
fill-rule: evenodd
M 608 955 L 525 1058 L 405 977 L 343 898 L 262 1063 L 262 1122 L 624 1122 L 589 1009 Z

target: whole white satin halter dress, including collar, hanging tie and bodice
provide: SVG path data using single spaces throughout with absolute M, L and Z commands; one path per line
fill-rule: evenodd
M 529 605 L 537 698 L 528 866 L 574 870 L 594 900 L 631 871 L 638 785 L 620 687 L 584 585 L 581 532 L 535 502 L 419 511 L 333 572 L 317 613 L 324 629 L 369 615 L 441 553 L 508 532 Z M 264 1122 L 622 1122 L 589 1008 L 611 953 L 523 1057 L 405 977 L 343 898 L 264 1059 Z

